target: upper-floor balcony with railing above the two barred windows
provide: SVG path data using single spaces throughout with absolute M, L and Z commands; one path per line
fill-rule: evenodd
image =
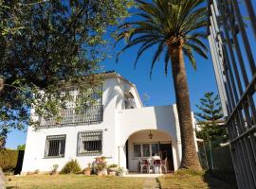
M 97 124 L 103 121 L 103 105 L 86 107 L 80 111 L 67 109 L 62 112 L 61 120 L 56 117 L 47 119 L 41 118 L 41 128 L 62 127 L 63 125 L 74 124 Z

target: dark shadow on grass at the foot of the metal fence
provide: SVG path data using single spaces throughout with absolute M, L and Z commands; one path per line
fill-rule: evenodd
M 210 189 L 236 189 L 237 184 L 233 173 L 227 171 L 207 171 L 203 180 L 208 183 Z

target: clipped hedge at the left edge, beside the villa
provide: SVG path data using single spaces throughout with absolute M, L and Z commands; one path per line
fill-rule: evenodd
M 19 151 L 0 149 L 0 166 L 3 171 L 14 170 L 18 162 Z

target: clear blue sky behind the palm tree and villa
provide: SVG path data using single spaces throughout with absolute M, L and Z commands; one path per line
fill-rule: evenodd
M 208 41 L 205 41 L 208 43 Z M 147 51 L 144 56 L 137 62 L 137 69 L 134 69 L 134 61 L 137 56 L 139 46 L 132 47 L 125 51 L 116 63 L 116 54 L 120 47 L 124 45 L 120 42 L 114 49 L 110 49 L 110 58 L 102 61 L 103 70 L 115 70 L 122 77 L 126 77 L 131 82 L 137 85 L 137 91 L 142 98 L 143 94 L 150 96 L 149 100 L 145 101 L 146 106 L 170 105 L 175 103 L 174 83 L 171 75 L 171 69 L 168 71 L 168 76 L 164 75 L 164 61 L 159 60 L 155 63 L 152 79 L 149 72 L 152 62 L 152 55 L 155 48 Z M 203 97 L 206 92 L 217 93 L 216 81 L 214 77 L 212 62 L 204 60 L 195 55 L 197 62 L 197 70 L 192 69 L 192 65 L 185 59 L 187 68 L 187 77 L 189 81 L 189 89 L 191 94 L 192 111 L 196 111 L 195 104 Z M 171 68 L 171 65 L 169 66 Z M 142 99 L 143 101 L 143 99 Z M 27 130 L 12 130 L 8 135 L 7 147 L 16 148 L 18 145 L 26 143 Z

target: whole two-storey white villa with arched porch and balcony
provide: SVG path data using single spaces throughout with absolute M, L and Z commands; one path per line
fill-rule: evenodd
M 137 171 L 139 158 L 159 154 L 167 157 L 169 170 L 178 168 L 181 142 L 176 105 L 143 107 L 135 84 L 115 72 L 102 76 L 98 105 L 80 114 L 70 108 L 61 122 L 48 119 L 37 130 L 28 127 L 22 174 L 48 172 L 54 164 L 60 171 L 72 159 L 84 168 L 99 156 L 106 157 L 108 164 Z

